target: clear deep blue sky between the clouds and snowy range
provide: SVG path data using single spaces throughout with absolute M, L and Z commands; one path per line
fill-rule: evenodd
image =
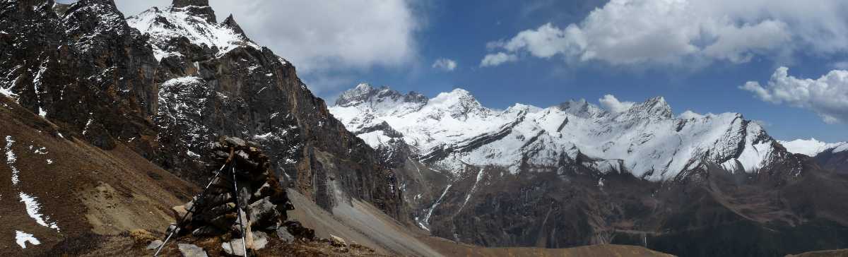
M 606 1 L 447 1 L 426 8 L 427 25 L 416 34 L 421 58 L 410 70 L 371 69 L 359 81 L 388 85 L 400 91 L 438 92 L 462 87 L 484 105 L 503 109 L 513 103 L 550 106 L 568 99 L 585 98 L 597 103 L 605 94 L 622 101 L 640 102 L 664 96 L 676 113 L 687 109 L 698 113 L 739 112 L 750 120 L 761 120 L 778 139 L 816 137 L 825 141 L 845 141 L 844 122 L 825 123 L 810 109 L 767 103 L 739 89 L 747 81 L 765 84 L 779 66 L 799 78 L 818 78 L 845 53 L 796 53 L 791 59 L 775 59 L 766 54 L 750 61 L 734 63 L 717 60 L 703 67 L 685 65 L 611 65 L 602 61 L 572 64 L 561 57 L 525 58 L 494 67 L 480 67 L 487 53 L 486 43 L 509 39 L 519 31 L 551 23 L 565 27 L 580 23 L 594 8 Z M 432 69 L 435 59 L 454 59 L 452 71 Z M 351 84 L 350 87 L 354 85 Z M 844 86 L 844 85 L 843 85 Z M 333 98 L 338 90 L 321 92 Z

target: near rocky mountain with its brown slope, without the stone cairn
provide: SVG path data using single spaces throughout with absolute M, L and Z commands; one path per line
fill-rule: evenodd
M 438 255 L 403 225 L 411 221 L 402 192 L 375 151 L 329 114 L 293 64 L 252 42 L 232 15 L 217 20 L 208 1 L 129 17 L 112 0 L 0 1 L 0 87 L 0 253 L 153 254 L 147 243 L 181 216 L 172 207 L 220 168 L 215 142 L 240 137 L 267 156 L 268 181 L 290 188 L 288 219 L 316 238 L 332 233 L 378 255 Z M 261 196 L 251 198 L 259 207 Z M 183 249 L 173 242 L 166 253 Z M 262 250 L 359 251 L 287 245 Z

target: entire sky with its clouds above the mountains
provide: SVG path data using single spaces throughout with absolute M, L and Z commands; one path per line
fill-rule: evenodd
M 116 2 L 127 16 L 170 4 Z M 739 112 L 778 139 L 848 141 L 848 3 L 812 2 L 210 0 L 331 103 L 360 82 L 461 87 L 497 109 L 664 96 L 678 114 Z M 509 60 L 483 65 L 499 53 Z

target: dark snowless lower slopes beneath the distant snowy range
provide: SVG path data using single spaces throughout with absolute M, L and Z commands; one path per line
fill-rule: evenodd
M 786 172 L 796 169 L 801 176 Z M 517 175 L 468 167 L 448 183 L 429 229 L 487 247 L 616 243 L 680 256 L 782 256 L 848 247 L 848 207 L 839 204 L 848 200 L 848 177 L 800 154 L 754 175 L 705 165 L 666 183 L 579 165 Z

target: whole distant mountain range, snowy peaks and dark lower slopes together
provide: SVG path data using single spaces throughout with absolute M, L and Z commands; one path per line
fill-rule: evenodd
M 404 200 L 438 237 L 682 256 L 848 247 L 844 162 L 793 154 L 740 114 L 676 115 L 661 97 L 616 111 L 585 100 L 499 110 L 462 89 L 427 98 L 368 84 L 330 111 L 406 170 Z

